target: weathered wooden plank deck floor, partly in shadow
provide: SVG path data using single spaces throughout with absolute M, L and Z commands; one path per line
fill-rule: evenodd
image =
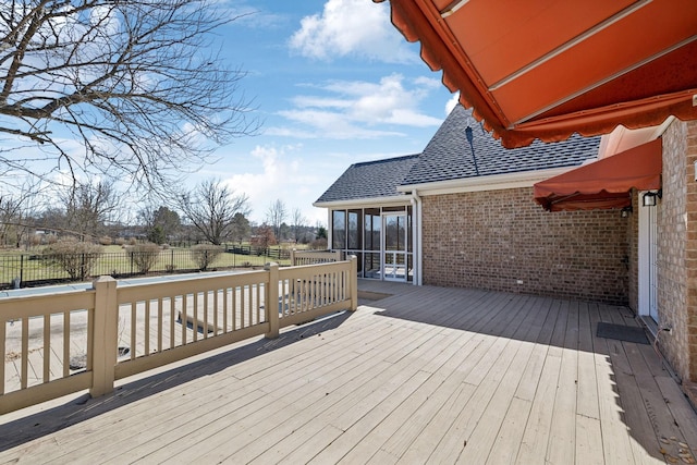
M 621 307 L 362 282 L 355 314 L 0 417 L 4 463 L 695 463 L 697 415 Z

